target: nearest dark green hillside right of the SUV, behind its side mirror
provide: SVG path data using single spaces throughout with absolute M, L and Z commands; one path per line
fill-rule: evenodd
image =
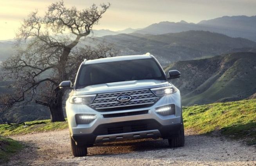
M 256 53 L 180 61 L 165 71 L 171 69 L 182 74 L 171 82 L 180 89 L 185 106 L 241 100 L 256 93 Z

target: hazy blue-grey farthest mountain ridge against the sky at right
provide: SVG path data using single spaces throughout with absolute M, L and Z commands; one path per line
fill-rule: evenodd
M 256 41 L 256 16 L 223 16 L 199 23 L 187 23 L 186 21 L 169 22 L 162 21 L 135 31 L 139 34 L 167 34 L 189 30 L 204 30 L 225 34 L 231 37 L 243 37 Z

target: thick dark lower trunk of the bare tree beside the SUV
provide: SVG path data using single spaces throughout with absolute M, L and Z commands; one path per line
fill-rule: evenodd
M 63 122 L 65 121 L 62 109 L 63 92 L 59 88 L 56 88 L 55 93 L 56 96 L 51 99 L 52 101 L 49 104 L 50 119 L 51 122 Z

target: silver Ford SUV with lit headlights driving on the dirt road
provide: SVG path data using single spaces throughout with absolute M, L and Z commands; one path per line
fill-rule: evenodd
M 130 55 L 85 60 L 66 102 L 72 153 L 87 155 L 96 143 L 141 138 L 168 139 L 184 146 L 179 90 L 166 77 L 153 55 Z

